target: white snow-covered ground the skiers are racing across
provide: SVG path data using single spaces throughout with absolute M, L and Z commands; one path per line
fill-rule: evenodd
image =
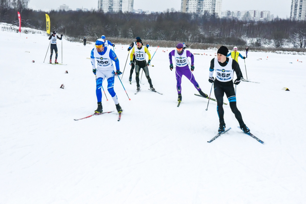
M 216 102 L 206 111 L 208 100 L 195 96 L 195 87 L 183 78 L 177 107 L 175 70 L 168 60 L 174 48 L 159 45 L 149 68 L 163 95 L 149 91 L 144 76 L 134 95 L 136 82 L 128 83 L 130 66 L 125 67 L 128 45 L 116 45 L 131 98 L 115 78 L 121 121 L 105 82 L 103 110 L 115 112 L 74 121 L 97 108 L 87 59 L 93 45 L 64 36 L 58 40 L 58 61 L 67 65 L 50 65 L 47 36 L 0 31 L 0 39 L 1 204 L 305 203 L 306 56 L 251 51 L 247 74 L 239 58 L 244 78 L 260 83 L 237 85 L 237 107 L 265 143 L 237 128 L 229 105 L 225 122 L 232 129 L 207 143 L 218 130 Z M 156 47 L 149 50 L 154 54 Z M 209 94 L 215 51 L 191 51 L 205 53 L 195 55 L 193 74 Z

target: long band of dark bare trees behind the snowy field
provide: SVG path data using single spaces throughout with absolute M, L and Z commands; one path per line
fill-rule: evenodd
M 17 24 L 17 10 L 29 0 L 0 0 L 0 21 Z M 3 2 L 19 2 L 15 7 L 2 6 Z M 18 10 L 19 11 L 19 10 Z M 262 46 L 273 44 L 282 47 L 291 42 L 295 47 L 306 47 L 306 22 L 285 19 L 254 22 L 237 19 L 220 19 L 205 13 L 198 16 L 167 9 L 163 13 L 103 13 L 96 10 L 50 11 L 51 30 L 69 35 L 76 41 L 84 36 L 101 35 L 146 40 L 169 40 L 192 43 Z M 21 9 L 22 24 L 44 30 L 45 12 Z

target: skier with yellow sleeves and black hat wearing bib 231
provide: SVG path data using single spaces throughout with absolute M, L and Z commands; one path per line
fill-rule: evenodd
M 148 62 L 146 61 L 146 54 L 148 55 Z M 149 76 L 149 69 L 148 66 L 151 62 L 151 54 L 146 46 L 143 46 L 142 40 L 139 38 L 136 40 L 136 46 L 133 46 L 131 54 L 130 54 L 130 65 L 133 64 L 133 58 L 135 57 L 135 72 L 136 72 L 136 83 L 137 83 L 137 91 L 140 91 L 140 84 L 139 84 L 139 73 L 140 69 L 144 70 L 144 73 L 147 77 L 147 80 L 150 84 L 151 91 L 155 91 L 153 88 L 152 80 Z

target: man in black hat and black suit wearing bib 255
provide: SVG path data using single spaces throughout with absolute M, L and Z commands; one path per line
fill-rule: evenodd
M 230 108 L 235 114 L 237 121 L 239 122 L 240 128 L 245 132 L 250 132 L 250 129 L 244 124 L 240 111 L 237 109 L 236 105 L 236 93 L 234 85 L 240 83 L 242 74 L 237 61 L 233 58 L 228 58 L 226 56 L 228 53 L 226 46 L 221 46 L 218 49 L 217 57 L 211 60 L 211 65 L 209 68 L 209 82 L 214 83 L 214 92 L 217 100 L 217 113 L 219 116 L 219 129 L 218 132 L 225 131 L 224 122 L 224 110 L 223 110 L 223 96 L 224 93 L 230 102 Z M 213 77 L 213 73 L 216 71 L 216 79 Z M 237 79 L 233 82 L 234 71 L 236 72 Z

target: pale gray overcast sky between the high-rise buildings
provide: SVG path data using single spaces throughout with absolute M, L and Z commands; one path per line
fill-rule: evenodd
M 66 4 L 69 8 L 97 9 L 98 0 L 62 0 L 62 1 L 43 1 L 30 0 L 28 6 L 34 10 L 50 11 L 57 9 L 60 5 Z M 291 0 L 241 0 L 233 2 L 232 0 L 222 0 L 222 11 L 225 10 L 260 10 L 270 11 L 274 17 L 280 18 L 290 17 Z M 134 0 L 134 9 L 142 9 L 144 11 L 164 11 L 167 8 L 174 8 L 179 11 L 181 9 L 181 0 Z

